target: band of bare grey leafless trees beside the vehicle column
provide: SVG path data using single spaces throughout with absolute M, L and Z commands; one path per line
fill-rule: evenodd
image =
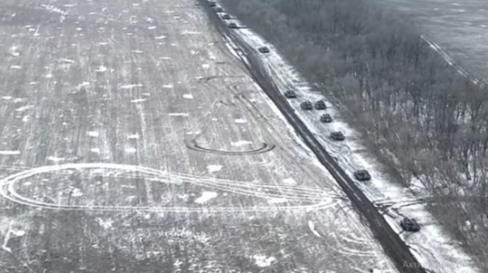
M 439 222 L 488 259 L 487 87 L 408 20 L 366 0 L 223 0 L 337 103 L 400 183 L 421 181 Z

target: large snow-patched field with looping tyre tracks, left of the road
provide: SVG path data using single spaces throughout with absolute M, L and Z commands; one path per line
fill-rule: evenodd
M 396 272 L 196 1 L 0 16 L 2 273 Z

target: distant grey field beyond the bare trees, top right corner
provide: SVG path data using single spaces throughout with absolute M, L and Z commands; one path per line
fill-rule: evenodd
M 488 2 L 485 0 L 376 0 L 419 25 L 467 72 L 488 77 Z

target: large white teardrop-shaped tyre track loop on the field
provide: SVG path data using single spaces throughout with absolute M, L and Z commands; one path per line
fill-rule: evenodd
M 182 183 L 192 183 L 197 186 L 221 190 L 224 193 L 235 195 L 248 195 L 254 198 L 283 198 L 286 203 L 291 205 L 268 205 L 256 207 L 154 207 L 154 206 L 106 206 L 106 205 L 69 205 L 54 204 L 42 200 L 34 200 L 19 194 L 16 190 L 16 184 L 33 176 L 56 172 L 57 174 L 69 174 L 70 171 L 95 170 L 97 175 L 107 176 L 107 174 L 121 177 L 124 173 L 138 173 L 138 176 L 127 177 L 145 177 L 151 178 L 159 183 L 173 183 L 181 185 Z M 100 170 L 103 174 L 100 174 Z M 94 171 L 94 172 L 95 172 Z M 142 176 L 141 176 L 142 175 Z M 188 175 L 170 175 L 165 171 L 150 169 L 141 166 L 123 165 L 123 164 L 65 164 L 54 166 L 43 166 L 35 169 L 20 171 L 0 180 L 0 196 L 11 200 L 20 205 L 37 207 L 49 210 L 92 210 L 92 211 L 147 211 L 147 212 L 277 212 L 292 210 L 320 210 L 326 207 L 337 205 L 337 198 L 316 188 L 292 187 L 292 186 L 274 186 L 262 185 L 257 183 L 248 183 L 243 181 L 230 181 L 216 178 L 207 178 Z M 54 200 L 53 200 L 54 201 Z M 55 201 L 54 201 L 55 202 Z M 295 204 L 293 204 L 295 203 Z

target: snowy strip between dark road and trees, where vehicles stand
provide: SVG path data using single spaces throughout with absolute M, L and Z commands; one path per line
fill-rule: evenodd
M 234 20 L 238 23 L 237 20 Z M 239 24 L 238 25 L 242 25 Z M 320 141 L 327 151 L 336 157 L 339 165 L 352 176 L 357 169 L 367 169 L 373 177 L 366 183 L 358 182 L 361 190 L 375 204 L 387 206 L 388 213 L 385 219 L 405 240 L 422 266 L 434 272 L 472 273 L 481 272 L 475 262 L 468 257 L 463 250 L 453 243 L 453 238 L 436 223 L 435 218 L 426 210 L 424 204 L 419 204 L 417 199 L 407 188 L 398 186 L 392 182 L 387 174 L 384 174 L 382 166 L 373 157 L 361 142 L 361 135 L 354 131 L 346 122 L 342 121 L 341 113 L 335 108 L 320 90 L 315 90 L 312 85 L 299 75 L 299 73 L 282 58 L 272 44 L 250 29 L 235 30 L 240 37 L 250 46 L 257 49 L 263 45 L 269 47 L 271 53 L 262 55 L 262 62 L 268 73 L 273 76 L 275 84 L 281 92 L 296 90 L 298 98 L 291 99 L 290 104 L 296 114 L 306 123 L 310 131 Z M 257 52 L 257 54 L 259 54 Z M 327 104 L 325 111 L 303 111 L 300 103 L 306 100 L 312 102 L 323 99 Z M 320 123 L 319 117 L 323 113 L 332 115 L 332 123 Z M 333 131 L 342 131 L 346 135 L 343 142 L 334 142 L 329 138 Z M 414 217 L 422 225 L 418 233 L 404 233 L 399 225 L 402 217 Z

